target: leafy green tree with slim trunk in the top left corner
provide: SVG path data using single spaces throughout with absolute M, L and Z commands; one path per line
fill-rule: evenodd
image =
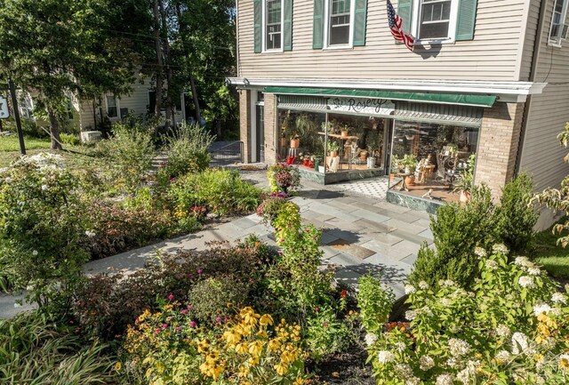
M 128 3 L 125 2 L 125 3 Z M 122 93 L 133 81 L 132 50 L 113 34 L 112 0 L 0 0 L 0 77 L 37 93 L 60 149 L 69 94 Z

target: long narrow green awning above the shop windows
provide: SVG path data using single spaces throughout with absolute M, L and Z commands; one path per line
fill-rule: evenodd
M 476 107 L 492 107 L 494 101 L 496 101 L 496 97 L 493 95 L 474 95 L 468 93 L 349 90 L 341 88 L 265 87 L 265 92 L 294 95 L 412 100 L 423 103 L 459 104 L 462 106 Z

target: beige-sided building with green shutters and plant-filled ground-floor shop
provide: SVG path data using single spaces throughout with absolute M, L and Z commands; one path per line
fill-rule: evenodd
M 407 192 L 410 172 L 397 172 L 388 199 L 427 209 L 455 199 L 472 155 L 475 182 L 494 197 L 521 171 L 536 190 L 557 187 L 567 172 L 556 136 L 569 121 L 568 4 L 394 0 L 416 36 L 410 52 L 391 36 L 385 0 L 237 0 L 238 75 L 228 80 L 240 90 L 245 160 L 309 153 L 326 174 L 303 175 L 327 182 L 417 156 L 420 183 Z M 300 148 L 288 143 L 294 134 Z

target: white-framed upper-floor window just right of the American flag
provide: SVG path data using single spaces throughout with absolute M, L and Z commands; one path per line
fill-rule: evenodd
M 455 38 L 458 0 L 413 2 L 412 34 L 416 41 L 452 43 Z

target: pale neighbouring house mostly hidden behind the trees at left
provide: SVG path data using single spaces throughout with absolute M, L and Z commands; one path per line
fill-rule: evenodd
M 188 95 L 180 95 L 176 101 L 176 123 L 186 121 L 187 104 L 191 105 Z M 188 103 L 186 103 L 188 101 Z M 68 95 L 68 126 L 79 131 L 100 130 L 98 126 L 104 119 L 116 122 L 128 114 L 144 116 L 148 111 L 154 111 L 156 106 L 156 92 L 151 84 L 135 82 L 132 91 L 127 95 L 114 95 L 112 93 L 100 95 L 97 100 L 79 100 L 75 95 Z M 24 117 L 34 118 L 34 97 L 30 94 L 20 95 L 20 113 Z M 165 116 L 165 109 L 163 110 Z M 189 116 L 189 115 L 188 115 Z M 36 119 L 36 123 L 47 126 L 49 122 Z

